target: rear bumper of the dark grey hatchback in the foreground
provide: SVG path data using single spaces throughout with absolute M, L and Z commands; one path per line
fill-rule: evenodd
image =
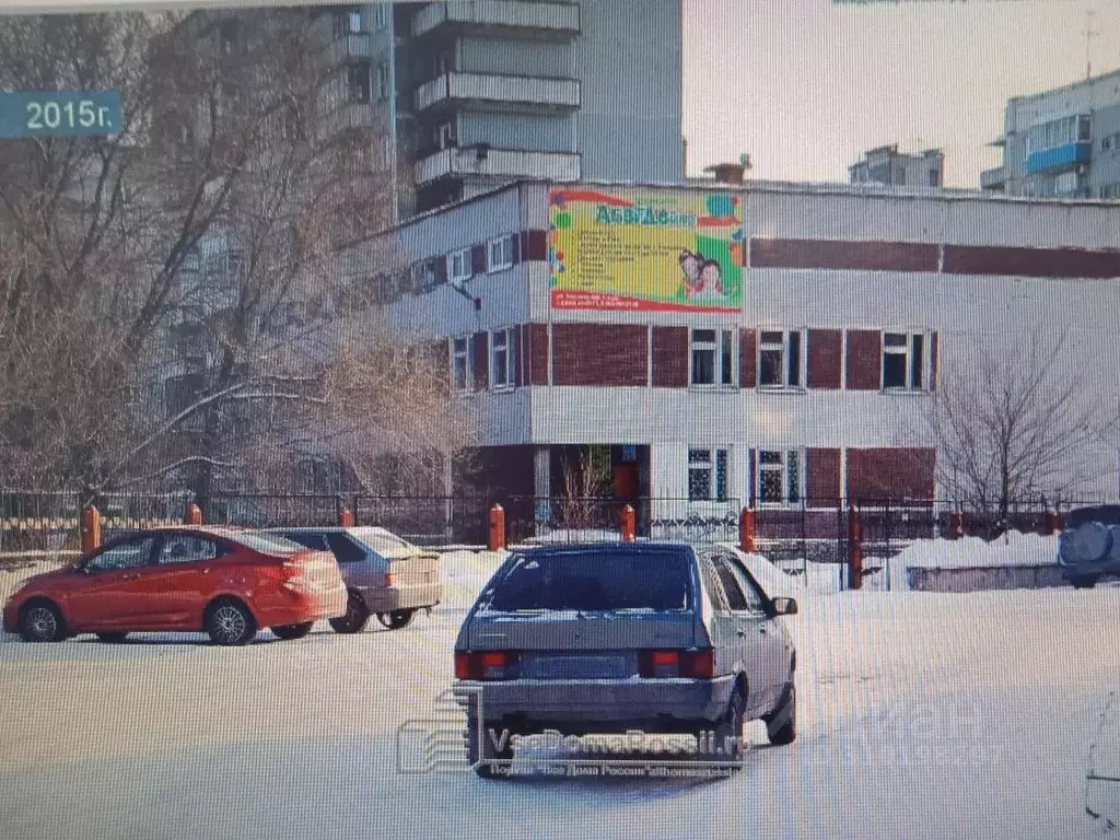
M 645 725 L 651 730 L 675 722 L 713 722 L 724 715 L 732 675 L 712 680 L 458 680 L 455 694 L 484 720 L 520 719 L 558 728 Z

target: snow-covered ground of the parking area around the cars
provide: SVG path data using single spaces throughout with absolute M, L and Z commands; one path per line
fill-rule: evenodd
M 399 773 L 398 728 L 441 713 L 455 633 L 500 561 L 447 556 L 448 603 L 396 632 L 263 632 L 234 650 L 7 637 L 4 836 L 940 840 L 1120 822 L 1117 785 L 1086 781 L 1120 764 L 1120 587 L 818 596 L 760 558 L 802 607 L 784 619 L 792 746 L 753 724 L 744 769 L 711 782 Z M 21 575 L 0 573 L 0 592 Z

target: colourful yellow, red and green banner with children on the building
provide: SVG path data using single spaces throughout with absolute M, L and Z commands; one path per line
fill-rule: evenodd
M 739 310 L 739 196 L 557 187 L 549 205 L 554 309 Z

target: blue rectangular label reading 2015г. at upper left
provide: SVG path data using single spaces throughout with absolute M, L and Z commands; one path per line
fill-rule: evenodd
M 116 91 L 0 93 L 0 137 L 115 134 L 121 130 Z

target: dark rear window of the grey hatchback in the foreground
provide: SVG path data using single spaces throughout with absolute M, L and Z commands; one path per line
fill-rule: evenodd
M 610 551 L 514 557 L 483 608 L 609 612 L 689 608 L 690 564 L 669 551 Z

